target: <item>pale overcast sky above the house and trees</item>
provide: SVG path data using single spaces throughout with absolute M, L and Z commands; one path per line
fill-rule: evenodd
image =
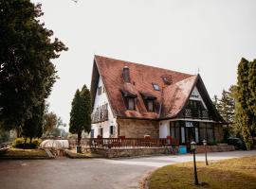
M 90 87 L 94 55 L 197 74 L 211 97 L 236 83 L 242 57 L 256 59 L 255 0 L 32 0 L 69 48 L 53 60 L 60 79 L 47 101 L 69 123 Z

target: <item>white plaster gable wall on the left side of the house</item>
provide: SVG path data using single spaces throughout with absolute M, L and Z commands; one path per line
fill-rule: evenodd
M 106 93 L 101 93 L 100 95 L 98 94 L 99 87 L 101 87 L 101 90 L 103 92 L 103 83 L 101 77 L 99 78 L 99 83 L 98 83 L 98 88 L 97 88 L 97 93 L 95 96 L 95 102 L 94 102 L 94 108 L 93 112 L 96 112 L 98 107 L 101 107 L 101 105 L 108 104 L 108 121 L 104 121 L 101 123 L 97 124 L 92 124 L 92 129 L 94 129 L 94 138 L 97 138 L 98 136 L 98 129 L 102 128 L 103 129 L 103 138 L 109 138 L 109 132 L 110 132 L 110 126 L 114 126 L 114 133 L 117 132 L 117 121 L 116 118 L 114 117 L 114 114 L 110 108 L 110 104 L 107 98 Z

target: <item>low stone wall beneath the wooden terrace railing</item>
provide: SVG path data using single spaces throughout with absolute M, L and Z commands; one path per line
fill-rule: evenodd
M 172 154 L 170 147 L 143 147 L 143 148 L 95 148 L 95 152 L 105 158 L 137 157 L 148 155 Z

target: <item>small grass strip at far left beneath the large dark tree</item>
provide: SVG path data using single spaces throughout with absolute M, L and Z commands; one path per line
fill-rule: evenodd
M 43 149 L 20 149 L 20 148 L 9 148 L 5 153 L 0 155 L 0 158 L 36 158 L 36 157 L 48 157 L 46 151 Z

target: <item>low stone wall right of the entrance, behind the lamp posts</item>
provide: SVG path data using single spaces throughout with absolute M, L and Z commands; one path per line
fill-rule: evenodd
M 208 152 L 222 152 L 222 151 L 234 151 L 234 146 L 229 146 L 228 144 L 219 144 L 216 146 L 207 146 Z M 196 146 L 197 153 L 204 153 L 205 146 Z

